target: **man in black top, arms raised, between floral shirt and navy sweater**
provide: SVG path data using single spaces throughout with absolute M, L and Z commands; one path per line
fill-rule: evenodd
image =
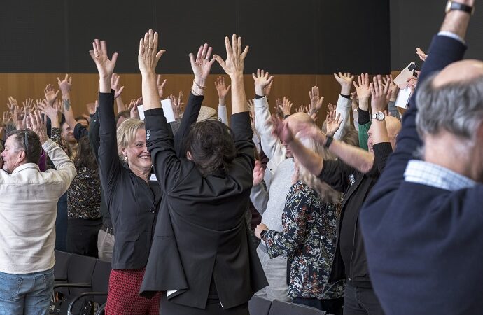
M 386 106 L 384 102 L 388 85 L 383 88 L 381 81 L 381 76 L 374 78 L 371 86 L 371 106 L 374 114 L 382 114 L 379 118 L 386 120 L 387 127 L 380 128 L 374 123 L 374 127 L 370 128 L 367 145 L 372 151 L 371 153 L 325 136 L 316 127 L 302 128 L 301 134 L 313 137 L 339 158 L 335 161 L 323 160 L 321 156 L 302 146 L 286 127 L 286 123 L 276 120 L 276 134 L 281 140 L 288 143 L 300 164 L 307 167 L 312 174 L 318 175 L 322 181 L 328 183 L 335 190 L 345 193 L 335 258 L 329 277 L 329 281 L 346 279 L 344 314 L 384 314 L 381 304 L 372 290 L 364 242 L 358 224 L 358 216 L 363 202 L 379 179 L 379 174 L 384 170 L 386 160 L 395 146 L 394 138 L 398 134 L 395 130 L 400 130 L 401 127 L 397 118 L 384 117 L 384 113 L 382 113 Z M 364 119 L 363 116 L 367 116 L 367 121 L 361 121 Z M 360 111 L 359 120 L 360 125 L 368 123 L 370 121 L 369 112 Z M 373 140 L 381 139 L 380 134 L 382 133 L 385 133 L 384 141 Z

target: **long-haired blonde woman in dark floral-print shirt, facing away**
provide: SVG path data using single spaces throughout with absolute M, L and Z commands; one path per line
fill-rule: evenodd
M 302 144 L 318 155 L 325 148 L 310 138 Z M 268 255 L 288 257 L 288 295 L 294 303 L 342 314 L 344 280 L 329 283 L 335 255 L 342 195 L 320 181 L 294 158 L 293 186 L 288 190 L 282 215 L 283 230 L 260 224 L 255 235 L 265 241 Z

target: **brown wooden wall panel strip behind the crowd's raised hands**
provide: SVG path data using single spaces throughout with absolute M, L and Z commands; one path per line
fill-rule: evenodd
M 120 73 L 120 76 L 121 84 L 125 85 L 122 97 L 124 102 L 129 104 L 130 99 L 141 96 L 141 75 Z M 15 97 L 20 104 L 26 98 L 43 98 L 45 85 L 51 83 L 57 87 L 57 77 L 63 78 L 64 74 L 0 73 L 0 111 L 8 110 L 6 103 L 9 96 Z M 97 99 L 99 76 L 91 73 L 75 73 L 72 77 L 71 103 L 74 114 L 78 116 L 80 113 L 87 113 L 85 104 L 94 102 Z M 209 76 L 204 98 L 204 104 L 214 108 L 218 106 L 218 94 L 216 94 L 214 86 L 216 77 L 217 75 Z M 193 84 L 193 75 L 167 74 L 162 76 L 162 78 L 167 79 L 165 96 L 169 94 L 177 95 L 179 90 L 183 90 L 186 95 L 186 102 L 186 99 L 188 99 L 187 95 Z M 228 82 L 230 81 L 228 76 L 225 76 L 225 79 L 228 79 Z M 340 92 L 339 85 L 334 77 L 326 75 L 275 75 L 272 92 L 269 95 L 271 110 L 274 109 L 275 100 L 277 98 L 282 99 L 284 96 L 292 100 L 294 104 L 293 110 L 295 106 L 309 104 L 309 89 L 314 85 L 320 88 L 321 94 L 325 97 L 322 109 L 322 112 L 325 113 L 328 102 L 335 104 Z M 255 88 L 251 75 L 245 76 L 245 90 L 248 98 L 254 97 Z M 228 96 L 227 102 L 230 104 L 230 96 Z

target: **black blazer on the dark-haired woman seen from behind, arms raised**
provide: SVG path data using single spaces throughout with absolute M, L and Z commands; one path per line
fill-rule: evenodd
M 254 164 L 248 112 L 232 116 L 238 151 L 232 165 L 206 178 L 176 156 L 162 109 L 145 115 L 164 197 L 141 294 L 177 290 L 168 295 L 171 302 L 204 309 L 214 279 L 223 308 L 248 302 L 268 285 L 244 218 Z

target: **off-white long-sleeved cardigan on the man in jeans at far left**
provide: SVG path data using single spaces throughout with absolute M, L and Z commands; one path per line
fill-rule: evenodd
M 54 266 L 57 202 L 76 176 L 73 162 L 54 141 L 43 150 L 57 170 L 26 163 L 0 170 L 0 272 L 30 274 Z

